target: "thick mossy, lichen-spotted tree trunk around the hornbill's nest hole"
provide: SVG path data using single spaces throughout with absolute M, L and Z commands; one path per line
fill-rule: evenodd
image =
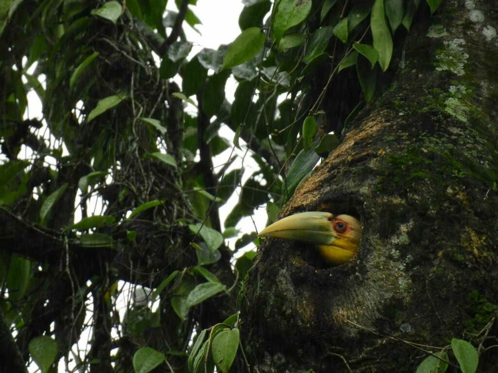
M 326 268 L 277 239 L 258 251 L 242 317 L 261 373 L 414 372 L 420 348 L 452 337 L 496 372 L 498 9 L 446 0 L 430 27 L 419 17 L 392 83 L 281 213 L 357 215 L 357 258 Z

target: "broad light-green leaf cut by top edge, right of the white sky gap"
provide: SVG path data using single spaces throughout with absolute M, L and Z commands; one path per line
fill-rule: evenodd
M 284 32 L 304 21 L 311 10 L 312 0 L 281 0 L 273 19 L 273 32 L 279 41 Z

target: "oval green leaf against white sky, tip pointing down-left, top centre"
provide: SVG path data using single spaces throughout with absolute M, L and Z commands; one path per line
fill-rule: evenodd
M 255 57 L 263 48 L 264 32 L 259 27 L 250 27 L 237 36 L 223 59 L 222 70 L 229 69 Z

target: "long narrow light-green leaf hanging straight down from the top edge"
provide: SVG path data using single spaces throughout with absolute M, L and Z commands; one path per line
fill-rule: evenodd
M 378 63 L 382 71 L 386 71 L 392 56 L 392 38 L 387 27 L 384 14 L 384 0 L 375 0 L 372 7 L 373 47 L 378 52 Z

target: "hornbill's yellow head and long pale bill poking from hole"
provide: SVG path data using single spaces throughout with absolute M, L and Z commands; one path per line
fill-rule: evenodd
M 280 219 L 264 228 L 258 236 L 315 244 L 323 259 L 338 266 L 356 256 L 362 237 L 362 224 L 350 215 L 310 211 Z

